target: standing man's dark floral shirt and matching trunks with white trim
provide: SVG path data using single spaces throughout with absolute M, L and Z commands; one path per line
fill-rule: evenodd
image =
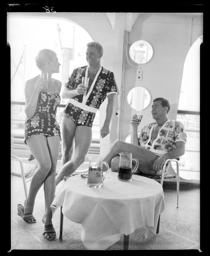
M 88 66 L 78 67 L 68 78 L 65 87 L 75 90 L 81 84 L 82 77 L 86 75 Z M 96 111 L 108 94 L 116 94 L 117 86 L 113 72 L 100 67 L 95 79 L 89 79 L 87 95 L 72 97 L 63 111 L 63 116 L 71 119 L 76 126 L 89 126 L 95 118 Z

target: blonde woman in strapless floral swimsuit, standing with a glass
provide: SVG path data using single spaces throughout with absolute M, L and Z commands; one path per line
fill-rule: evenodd
M 40 187 L 44 183 L 45 213 L 42 222 L 45 224 L 44 237 L 55 238 L 50 205 L 55 196 L 55 170 L 60 145 L 60 127 L 55 119 L 56 109 L 60 103 L 61 82 L 51 78 L 59 73 L 60 63 L 54 51 L 43 49 L 36 57 L 39 70 L 48 73 L 48 81 L 39 75 L 28 80 L 25 87 L 26 122 L 25 143 L 38 162 L 33 175 L 29 196 L 24 206 L 18 204 L 18 215 L 27 223 L 35 223 L 33 216 L 34 201 Z

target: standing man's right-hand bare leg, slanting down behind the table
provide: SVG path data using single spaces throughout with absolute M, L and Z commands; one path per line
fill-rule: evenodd
M 70 161 L 63 165 L 56 176 L 56 186 L 63 180 L 64 176 L 69 176 L 84 162 L 92 141 L 92 128 L 87 126 L 77 126 L 75 132 L 75 151 Z

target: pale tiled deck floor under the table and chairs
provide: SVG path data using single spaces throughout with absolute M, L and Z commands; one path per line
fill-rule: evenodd
M 29 188 L 29 183 L 27 186 Z M 60 189 L 60 183 L 56 191 Z M 168 182 L 163 185 L 165 210 L 160 217 L 160 232 L 150 239 L 144 239 L 145 228 L 136 229 L 130 235 L 129 250 L 199 250 L 200 214 L 199 214 L 199 185 L 181 183 L 179 208 L 176 208 L 176 183 Z M 42 235 L 44 224 L 43 187 L 39 190 L 35 205 L 34 216 L 37 222 L 25 223 L 17 215 L 17 204 L 24 204 L 24 188 L 21 178 L 11 175 L 11 250 L 86 250 L 81 242 L 80 224 L 70 221 L 64 216 L 63 240 L 59 240 L 60 210 L 55 212 L 53 225 L 57 237 L 48 241 Z M 108 250 L 122 250 L 123 237 L 110 246 Z

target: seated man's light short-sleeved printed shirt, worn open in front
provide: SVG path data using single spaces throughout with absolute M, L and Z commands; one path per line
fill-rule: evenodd
M 177 141 L 186 143 L 186 131 L 183 124 L 179 121 L 168 119 L 158 132 L 157 138 L 153 141 L 152 146 L 148 145 L 151 140 L 152 130 L 156 124 L 154 122 L 144 126 L 139 136 L 141 146 L 155 153 L 164 154 L 164 152 L 166 153 L 176 148 Z

